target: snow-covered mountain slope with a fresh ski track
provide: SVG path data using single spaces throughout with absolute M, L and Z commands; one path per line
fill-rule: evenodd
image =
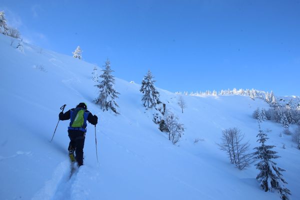
M 21 52 L 2 34 L 0 55 L 1 199 L 279 199 L 276 192 L 259 188 L 254 166 L 238 170 L 216 145 L 222 128 L 236 126 L 251 148 L 257 146 L 251 114 L 268 107 L 262 100 L 184 96 L 187 108 L 182 114 L 177 95 L 159 89 L 161 100 L 186 128 L 178 146 L 145 111 L 139 84 L 116 78 L 120 114 L 114 115 L 92 103 L 97 96 L 91 80 L 94 65 L 48 50 L 40 53 L 40 47 L 26 43 Z M 117 70 L 113 60 L 111 66 Z M 68 121 L 60 121 L 49 140 L 59 107 L 66 103 L 67 110 L 82 101 L 99 117 L 99 163 L 89 124 L 84 165 L 70 177 Z M 300 151 L 290 136 L 279 137 L 280 124 L 264 122 L 262 127 L 269 129 L 268 143 L 282 156 L 275 161 L 286 169 L 291 199 L 300 199 Z M 203 141 L 194 143 L 195 138 Z

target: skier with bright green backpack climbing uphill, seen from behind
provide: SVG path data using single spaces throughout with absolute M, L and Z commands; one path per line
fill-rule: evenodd
M 78 166 L 83 164 L 83 146 L 86 132 L 86 120 L 93 125 L 98 122 L 98 117 L 92 115 L 87 110 L 87 106 L 84 102 L 80 102 L 75 108 L 69 109 L 66 112 L 59 113 L 60 120 L 70 119 L 68 126 L 68 136 L 70 142 L 68 145 L 69 157 L 71 161 L 77 161 Z M 75 151 L 75 157 L 74 157 Z

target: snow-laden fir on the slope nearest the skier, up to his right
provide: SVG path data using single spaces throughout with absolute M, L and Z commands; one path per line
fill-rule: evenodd
M 113 88 L 114 76 L 111 75 L 113 70 L 110 69 L 110 61 L 108 59 L 105 61 L 103 67 L 105 67 L 105 69 L 101 70 L 103 73 L 97 79 L 98 84 L 95 85 L 100 90 L 99 96 L 94 101 L 101 106 L 103 111 L 110 108 L 113 112 L 118 114 L 116 111 L 118 105 L 115 102 L 115 98 L 118 98 L 117 94 L 119 94 L 119 92 Z M 99 80 L 100 78 L 101 81 Z

